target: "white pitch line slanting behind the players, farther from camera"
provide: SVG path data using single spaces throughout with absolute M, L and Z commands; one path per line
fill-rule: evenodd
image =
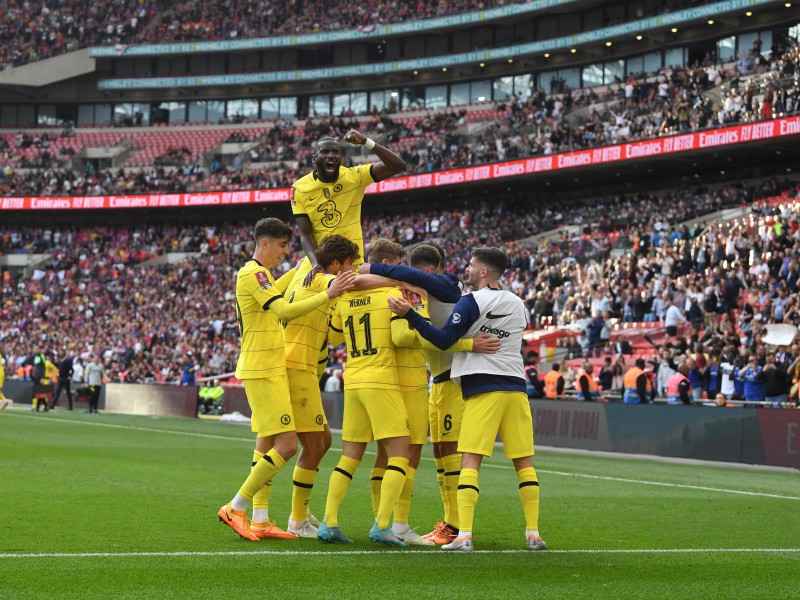
M 33 415 L 19 415 L 19 414 L 11 414 L 11 416 L 17 418 L 27 418 L 27 419 L 36 419 L 40 422 L 47 422 L 47 423 L 68 423 L 70 425 L 89 425 L 93 427 L 110 427 L 112 429 L 129 429 L 132 431 L 144 431 L 147 433 L 167 433 L 172 435 L 183 435 L 188 437 L 197 437 L 203 439 L 213 439 L 213 440 L 223 440 L 228 442 L 240 442 L 240 443 L 247 443 L 252 444 L 254 440 L 252 438 L 239 438 L 239 437 L 231 437 L 225 435 L 214 435 L 210 433 L 197 433 L 193 431 L 174 431 L 172 429 L 157 429 L 155 427 L 138 427 L 136 425 L 116 425 L 114 423 L 97 423 L 94 421 L 67 421 L 62 419 L 48 419 L 47 421 L 43 421 L 42 419 L 35 417 Z M 338 452 L 340 448 L 331 448 L 333 452 Z M 374 452 L 367 451 L 365 452 L 367 455 L 374 455 Z M 423 456 L 422 460 L 425 461 L 433 461 L 433 458 L 428 456 Z M 498 465 L 490 462 L 484 462 L 484 467 L 489 467 L 492 469 L 513 469 L 510 465 Z M 800 496 L 785 496 L 782 494 L 769 494 L 766 492 L 748 492 L 745 490 L 733 490 L 729 488 L 717 488 L 717 487 L 709 487 L 709 486 L 702 486 L 702 485 L 690 485 L 687 483 L 665 483 L 663 481 L 648 481 L 644 479 L 627 479 L 624 477 L 611 477 L 607 475 L 589 475 L 586 473 L 568 473 L 566 471 L 551 471 L 549 469 L 536 469 L 539 473 L 545 473 L 547 475 L 559 475 L 561 477 L 580 477 L 583 479 L 597 479 L 601 481 L 614 481 L 617 483 L 632 483 L 638 485 L 651 485 L 656 487 L 668 487 L 668 488 L 677 488 L 677 489 L 684 489 L 684 490 L 696 490 L 702 492 L 717 492 L 720 494 L 734 494 L 739 496 L 754 496 L 758 498 L 774 498 L 778 500 L 800 500 Z

